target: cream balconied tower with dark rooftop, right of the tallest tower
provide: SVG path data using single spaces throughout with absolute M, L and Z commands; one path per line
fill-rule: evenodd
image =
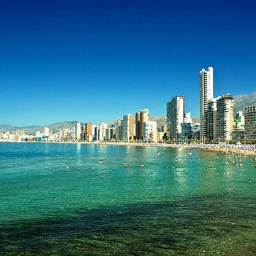
M 226 94 L 217 100 L 217 138 L 230 141 L 234 130 L 234 98 Z

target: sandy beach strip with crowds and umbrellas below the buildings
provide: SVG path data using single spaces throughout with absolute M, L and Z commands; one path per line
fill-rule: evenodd
M 1 143 L 1 142 L 0 142 Z M 8 143 L 64 143 L 64 144 L 96 144 L 109 146 L 135 146 L 135 147 L 171 147 L 171 148 L 198 148 L 201 150 L 221 151 L 226 153 L 237 153 L 256 155 L 256 144 L 167 144 L 167 143 L 137 143 L 137 142 L 36 142 L 36 141 L 14 141 Z

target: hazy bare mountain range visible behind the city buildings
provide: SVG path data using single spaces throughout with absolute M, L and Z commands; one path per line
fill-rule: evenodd
M 243 110 L 245 106 L 255 106 L 255 105 L 256 105 L 256 92 L 251 93 L 249 95 L 239 94 L 234 97 L 234 112 Z M 149 119 L 150 121 L 156 121 L 158 123 L 158 128 L 160 128 L 166 123 L 165 115 L 151 116 L 149 117 Z M 199 118 L 192 118 L 192 121 L 199 122 Z M 108 124 L 112 125 L 114 122 L 115 121 L 109 122 Z M 27 127 L 18 127 L 13 125 L 0 125 L 0 131 L 15 131 L 17 129 L 19 130 L 22 129 L 25 131 L 26 134 L 35 134 L 36 131 L 43 131 L 44 127 L 48 127 L 49 130 L 52 130 L 53 133 L 56 133 L 60 129 L 72 128 L 74 126 L 76 126 L 76 121 L 52 123 L 52 124 L 43 125 L 43 126 L 32 125 Z

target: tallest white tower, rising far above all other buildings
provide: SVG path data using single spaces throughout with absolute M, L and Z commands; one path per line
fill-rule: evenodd
M 201 139 L 207 137 L 207 110 L 208 101 L 213 99 L 213 68 L 209 67 L 207 71 L 203 68 L 199 75 L 200 80 L 200 122 Z

